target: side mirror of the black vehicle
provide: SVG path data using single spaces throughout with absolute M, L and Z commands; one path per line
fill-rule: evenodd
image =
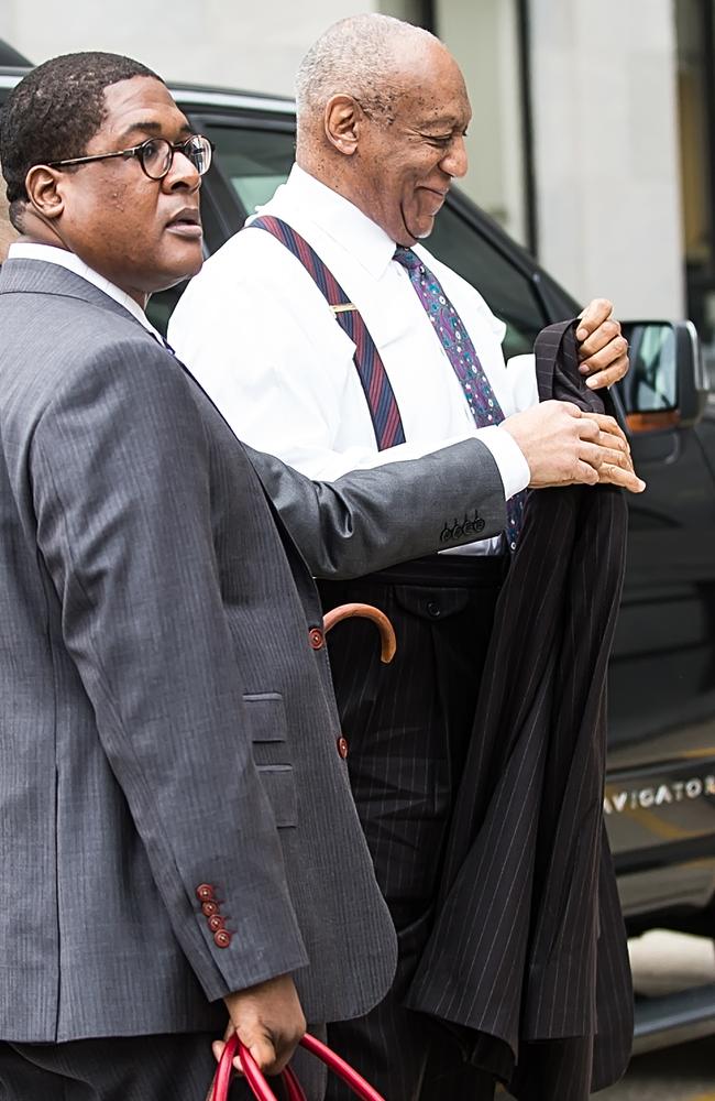
M 630 369 L 619 384 L 632 433 L 686 427 L 700 421 L 708 384 L 692 321 L 626 321 Z

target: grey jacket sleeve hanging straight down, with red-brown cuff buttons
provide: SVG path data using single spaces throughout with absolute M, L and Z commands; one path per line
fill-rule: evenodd
M 187 378 L 153 341 L 72 373 L 33 438 L 38 545 L 103 751 L 215 1000 L 307 957 L 221 600 L 209 440 Z M 202 884 L 222 901 L 228 945 Z

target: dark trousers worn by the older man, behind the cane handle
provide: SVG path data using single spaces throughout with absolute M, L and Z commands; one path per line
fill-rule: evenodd
M 441 858 L 480 688 L 506 559 L 442 555 L 346 582 L 321 582 L 326 610 L 351 600 L 381 608 L 397 634 L 380 663 L 374 628 L 349 620 L 329 637 L 349 743 L 348 765 L 381 890 L 398 934 L 387 998 L 328 1039 L 387 1101 L 487 1101 L 491 1076 L 471 1067 L 450 1033 L 406 1010 L 435 916 Z M 346 1101 L 330 1081 L 329 1101 Z

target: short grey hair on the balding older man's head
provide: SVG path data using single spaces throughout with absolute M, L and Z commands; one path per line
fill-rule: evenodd
M 320 35 L 296 76 L 298 126 L 322 112 L 331 96 L 354 96 L 367 115 L 392 121 L 399 48 L 415 37 L 439 41 L 429 31 L 372 12 L 341 19 Z

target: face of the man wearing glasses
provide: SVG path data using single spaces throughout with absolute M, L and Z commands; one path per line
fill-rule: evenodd
M 111 153 L 147 138 L 180 141 L 190 127 L 166 87 L 152 77 L 132 77 L 105 90 L 106 115 L 86 155 Z M 36 188 L 31 184 L 36 174 Z M 202 263 L 200 177 L 180 152 L 164 179 L 150 179 L 138 157 L 95 161 L 72 168 L 31 170 L 28 189 L 45 243 L 75 252 L 90 268 L 142 306 L 146 296 L 189 275 Z M 44 187 L 43 187 L 44 182 Z M 33 228 L 36 225 L 33 219 Z

